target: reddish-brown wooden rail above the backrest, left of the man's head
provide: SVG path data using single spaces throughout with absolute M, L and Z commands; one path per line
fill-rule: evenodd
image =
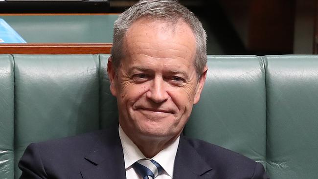
M 110 53 L 112 44 L 1 44 L 0 54 Z

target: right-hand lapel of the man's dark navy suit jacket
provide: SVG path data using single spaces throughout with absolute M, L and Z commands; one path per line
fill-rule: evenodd
M 202 156 L 180 135 L 175 159 L 174 179 L 214 179 L 215 171 Z

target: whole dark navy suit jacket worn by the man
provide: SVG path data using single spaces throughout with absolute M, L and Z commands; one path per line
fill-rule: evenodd
M 30 144 L 21 179 L 126 179 L 118 127 Z M 207 142 L 180 137 L 173 179 L 268 179 L 261 163 Z

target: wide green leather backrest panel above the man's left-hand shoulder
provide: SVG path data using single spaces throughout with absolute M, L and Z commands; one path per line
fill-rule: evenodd
M 99 129 L 98 55 L 13 55 L 15 177 L 30 142 Z

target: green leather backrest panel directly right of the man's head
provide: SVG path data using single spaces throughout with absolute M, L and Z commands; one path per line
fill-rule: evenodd
M 261 57 L 209 56 L 204 90 L 184 134 L 265 166 L 266 96 Z

